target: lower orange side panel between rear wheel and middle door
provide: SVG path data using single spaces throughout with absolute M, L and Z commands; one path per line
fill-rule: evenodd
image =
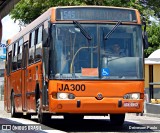
M 14 91 L 15 111 L 22 112 L 22 70 L 11 73 L 11 88 Z

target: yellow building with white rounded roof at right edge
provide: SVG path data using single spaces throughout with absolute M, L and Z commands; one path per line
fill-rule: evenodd
M 160 111 L 160 49 L 145 59 L 146 113 L 159 115 Z

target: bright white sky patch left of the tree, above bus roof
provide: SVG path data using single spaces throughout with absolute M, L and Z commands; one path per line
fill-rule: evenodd
M 20 31 L 18 22 L 14 22 L 9 15 L 2 19 L 3 31 L 2 31 L 2 43 L 6 44 L 6 41 L 16 35 Z

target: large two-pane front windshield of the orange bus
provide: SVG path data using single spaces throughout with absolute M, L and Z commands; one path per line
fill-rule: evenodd
M 54 79 L 143 79 L 142 31 L 139 25 L 53 24 L 50 77 Z M 116 48 L 118 54 L 114 52 Z

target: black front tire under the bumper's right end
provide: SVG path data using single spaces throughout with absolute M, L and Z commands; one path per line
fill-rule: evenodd
M 125 114 L 110 114 L 111 124 L 122 126 L 125 120 Z

